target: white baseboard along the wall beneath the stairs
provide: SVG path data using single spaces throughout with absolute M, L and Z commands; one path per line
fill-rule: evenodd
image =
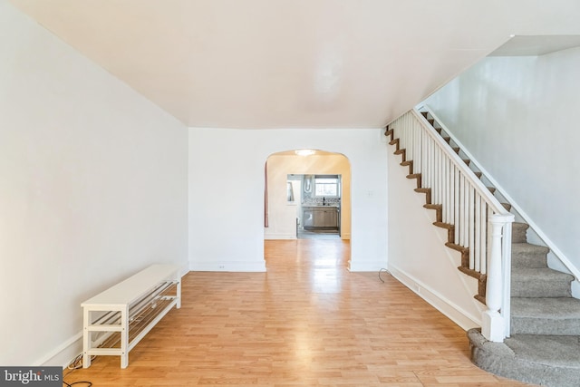
M 423 300 L 427 301 L 431 306 L 445 314 L 451 321 L 458 324 L 465 331 L 471 328 L 481 326 L 481 318 L 462 310 L 458 305 L 453 304 L 448 299 L 430 289 L 429 286 L 422 284 L 411 276 L 399 271 L 396 267 L 389 266 L 389 273 L 399 280 L 403 285 L 411 289 L 413 293 L 419 295 Z

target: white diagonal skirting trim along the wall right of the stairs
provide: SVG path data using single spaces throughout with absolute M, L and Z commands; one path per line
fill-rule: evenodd
M 432 111 L 432 109 L 430 109 L 429 105 L 422 105 L 419 108 L 419 111 L 420 110 L 427 111 L 430 116 L 433 117 L 435 121 L 437 121 L 441 129 L 446 132 L 446 134 L 451 138 L 451 140 L 453 140 L 454 143 L 459 146 L 459 148 L 461 148 L 461 151 L 465 153 L 465 155 L 469 158 L 469 160 L 471 160 L 477 169 L 483 173 L 486 179 L 488 179 L 489 182 L 498 190 L 499 194 L 506 198 L 507 202 L 509 202 L 511 207 L 517 212 L 517 215 L 522 218 L 530 228 L 532 228 L 532 230 L 536 233 L 536 236 L 542 240 L 542 242 L 550 249 L 554 256 L 556 256 L 556 258 L 562 263 L 562 265 L 564 265 L 565 268 L 570 271 L 570 274 L 575 276 L 575 281 L 580 282 L 580 270 L 578 270 L 576 266 L 574 266 L 574 264 L 572 264 L 572 262 L 565 256 L 565 254 L 560 251 L 558 247 L 556 247 L 556 244 L 552 242 L 552 240 L 547 237 L 546 234 L 544 234 L 544 231 L 542 231 L 540 227 L 537 227 L 536 222 L 534 222 L 529 217 L 529 215 L 527 215 L 527 213 L 517 205 L 517 202 L 506 193 L 506 190 L 503 189 L 495 179 L 491 177 L 488 171 L 479 165 L 478 161 L 469 153 L 469 150 L 467 150 L 467 148 L 463 146 L 463 144 L 453 135 L 453 133 L 449 131 L 445 124 L 440 121 L 440 118 Z

